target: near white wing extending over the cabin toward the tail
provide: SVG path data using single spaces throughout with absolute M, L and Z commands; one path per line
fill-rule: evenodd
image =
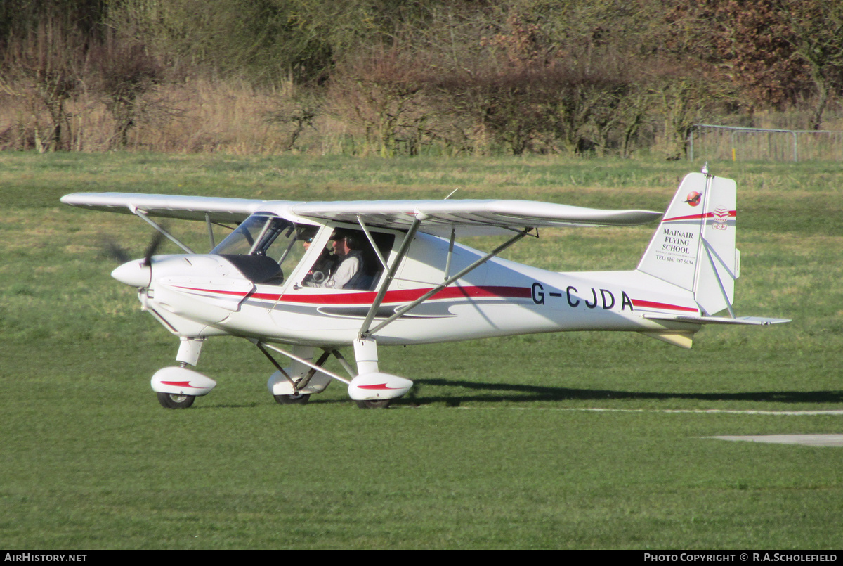
M 463 235 L 485 235 L 540 226 L 633 226 L 662 215 L 648 210 L 601 210 L 517 200 L 302 202 L 289 210 L 304 218 L 355 224 L 359 219 L 395 229 L 408 228 L 422 215 L 420 231 L 436 235 L 448 235 L 452 228 Z

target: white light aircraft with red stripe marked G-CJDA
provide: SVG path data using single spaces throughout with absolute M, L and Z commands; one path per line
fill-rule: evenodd
M 164 407 L 190 407 L 216 382 L 196 366 L 210 337 L 253 342 L 277 371 L 277 402 L 305 403 L 331 380 L 360 407 L 386 407 L 412 381 L 379 370 L 379 346 L 532 332 L 630 331 L 690 348 L 705 324 L 736 317 L 735 182 L 691 173 L 634 271 L 550 272 L 498 254 L 558 226 L 631 226 L 662 216 L 518 200 L 290 202 L 135 193 L 75 193 L 62 202 L 132 213 L 185 253 L 128 261 L 111 275 L 137 288 L 142 310 L 180 338 L 179 365 L 158 370 Z M 207 224 L 194 253 L 153 218 Z M 213 226 L 233 231 L 218 244 Z M 485 253 L 458 236 L 509 234 Z M 333 248 L 333 250 L 331 250 Z M 340 353 L 353 348 L 356 364 Z M 273 354 L 290 360 L 282 367 Z M 317 356 L 316 353 L 319 353 Z M 348 377 L 326 369 L 334 356 Z M 355 367 L 356 366 L 356 367 Z

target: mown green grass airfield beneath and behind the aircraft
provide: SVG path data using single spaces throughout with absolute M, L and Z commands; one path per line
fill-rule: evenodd
M 336 385 L 279 406 L 270 364 L 234 338 L 203 350 L 211 395 L 162 409 L 148 380 L 177 341 L 103 252 L 115 240 L 141 256 L 151 230 L 58 202 L 459 186 L 455 197 L 663 210 L 692 169 L 0 154 L 0 547 L 839 549 L 843 448 L 709 438 L 843 433 L 840 414 L 786 413 L 843 410 L 839 164 L 711 164 L 738 181 L 738 315 L 792 323 L 706 328 L 692 350 L 591 332 L 383 348 L 382 368 L 416 382 L 387 411 L 357 409 Z M 172 228 L 206 239 L 202 224 Z M 653 228 L 548 230 L 508 256 L 628 269 Z

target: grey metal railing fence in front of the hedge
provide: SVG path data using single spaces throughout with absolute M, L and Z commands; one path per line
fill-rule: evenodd
M 688 135 L 688 159 L 843 161 L 843 131 L 695 124 Z

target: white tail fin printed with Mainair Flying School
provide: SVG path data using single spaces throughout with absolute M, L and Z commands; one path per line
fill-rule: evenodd
M 736 186 L 731 179 L 691 173 L 658 225 L 638 271 L 694 294 L 703 315 L 734 316 Z

